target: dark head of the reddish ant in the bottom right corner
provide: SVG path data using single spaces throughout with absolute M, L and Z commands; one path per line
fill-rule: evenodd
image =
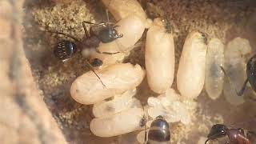
M 208 134 L 207 138 L 214 139 L 226 136 L 226 130 L 228 130 L 228 128 L 225 125 L 216 124 L 211 127 L 210 133 Z

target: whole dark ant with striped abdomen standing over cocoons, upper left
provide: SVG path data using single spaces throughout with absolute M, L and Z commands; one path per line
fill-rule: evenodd
M 57 31 L 50 31 L 47 30 L 47 32 L 53 33 L 53 34 L 62 34 L 68 38 L 72 38 L 74 42 L 68 41 L 68 40 L 61 40 L 58 41 L 57 45 L 54 47 L 54 55 L 56 58 L 62 60 L 62 62 L 65 62 L 66 60 L 70 59 L 77 49 L 83 48 L 83 56 L 86 58 L 86 63 L 90 66 L 90 69 L 94 72 L 94 74 L 99 78 L 98 74 L 94 71 L 94 66 L 101 66 L 102 61 L 98 58 L 94 59 L 92 64 L 88 62 L 87 58 L 90 57 L 90 54 L 92 52 L 97 52 L 100 54 L 118 54 L 116 53 L 109 53 L 109 52 L 100 52 L 97 50 L 97 47 L 99 46 L 99 43 L 108 43 L 113 42 L 117 38 L 122 38 L 122 34 L 118 34 L 118 31 L 115 29 L 117 26 L 114 26 L 114 23 L 109 22 L 109 15 L 108 10 L 106 10 L 106 17 L 107 22 L 102 22 L 95 24 L 93 22 L 82 22 L 83 29 L 85 30 L 84 37 L 79 40 L 78 38 L 75 38 L 74 36 L 70 34 L 65 34 Z M 86 29 L 86 24 L 90 24 L 93 26 L 90 26 L 90 31 Z M 101 30 L 98 31 L 98 34 L 95 33 L 94 28 L 100 27 Z M 102 82 L 101 78 L 99 80 Z M 102 82 L 102 85 L 105 86 Z

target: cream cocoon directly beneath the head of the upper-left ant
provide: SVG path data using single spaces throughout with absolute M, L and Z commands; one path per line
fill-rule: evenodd
M 100 43 L 97 48 L 101 52 L 122 52 L 118 54 L 98 54 L 94 53 L 91 58 L 99 58 L 102 60 L 103 65 L 109 66 L 115 62 L 122 62 L 126 53 L 134 48 L 134 44 L 142 38 L 145 26 L 140 18 L 136 16 L 129 16 L 122 19 L 116 24 L 116 30 L 119 34 L 123 34 L 122 38 L 114 40 L 114 42 Z

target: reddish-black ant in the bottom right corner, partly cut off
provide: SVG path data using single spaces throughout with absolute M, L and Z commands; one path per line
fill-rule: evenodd
M 210 140 L 214 140 L 217 138 L 222 138 L 225 137 L 226 135 L 230 139 L 230 141 L 226 143 L 230 144 L 251 144 L 252 142 L 250 141 L 250 136 L 252 136 L 254 132 L 252 131 L 246 131 L 243 130 L 242 128 L 239 129 L 228 129 L 225 125 L 222 124 L 215 124 L 214 126 L 211 127 L 210 133 L 207 136 L 207 142 Z

